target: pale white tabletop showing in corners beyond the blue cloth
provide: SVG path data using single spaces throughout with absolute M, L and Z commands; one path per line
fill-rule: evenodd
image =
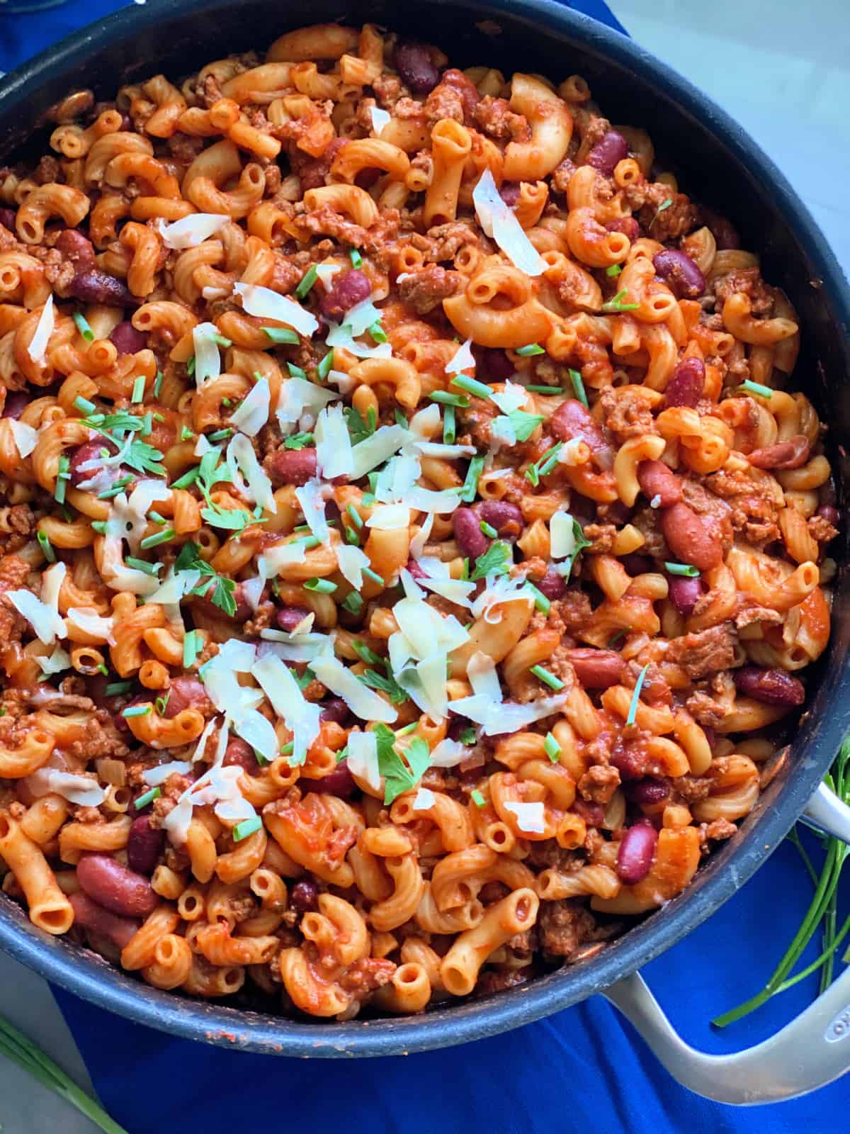
M 841 262 L 849 264 L 847 0 L 776 0 L 770 6 L 764 0 L 609 0 L 609 6 L 635 40 L 702 87 L 755 137 L 807 203 Z M 2 954 L 0 1012 L 91 1091 L 46 983 Z M 1 1134 L 95 1131 L 0 1058 Z

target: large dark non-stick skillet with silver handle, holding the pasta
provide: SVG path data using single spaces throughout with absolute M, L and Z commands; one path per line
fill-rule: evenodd
M 158 71 L 180 76 L 233 51 L 264 49 L 282 32 L 345 19 L 384 23 L 439 43 L 456 66 L 487 64 L 589 81 L 614 121 L 646 127 L 687 192 L 726 213 L 765 277 L 799 312 L 802 352 L 794 381 L 830 423 L 830 457 L 847 498 L 850 435 L 850 294 L 824 237 L 776 167 L 711 100 L 630 40 L 551 0 L 148 0 L 71 35 L 0 82 L 0 160 L 46 149 L 40 118 L 78 86 L 107 99 Z M 836 557 L 847 560 L 844 545 Z M 672 1031 L 637 970 L 708 917 L 767 858 L 808 807 L 850 841 L 850 810 L 818 790 L 850 727 L 850 578 L 841 573 L 833 637 L 793 759 L 742 830 L 692 886 L 595 958 L 530 985 L 402 1019 L 309 1024 L 237 1012 L 148 988 L 91 953 L 42 933 L 0 900 L 0 946 L 77 996 L 192 1040 L 240 1050 L 320 1058 L 399 1055 L 494 1035 L 602 992 L 626 1012 L 687 1086 L 725 1102 L 767 1102 L 831 1082 L 850 1068 L 850 971 L 772 1040 L 736 1056 L 705 1056 Z

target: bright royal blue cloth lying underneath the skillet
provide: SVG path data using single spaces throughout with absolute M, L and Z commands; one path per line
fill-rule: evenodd
M 71 0 L 33 16 L 0 17 L 0 69 L 14 66 L 117 6 Z M 572 7 L 624 31 L 601 0 Z M 807 838 L 817 861 L 817 840 Z M 680 1034 L 730 1052 L 773 1034 L 810 1002 L 811 976 L 741 1023 L 712 1016 L 757 991 L 796 932 L 811 894 L 789 844 L 687 940 L 645 975 Z M 850 904 L 844 887 L 840 908 Z M 660 916 L 663 916 L 660 915 Z M 816 942 L 807 958 L 818 951 Z M 324 1134 L 374 1129 L 434 1134 L 799 1134 L 832 1126 L 847 1081 L 793 1102 L 743 1110 L 673 1083 L 631 1026 L 601 998 L 458 1050 L 362 1061 L 304 1061 L 224 1051 L 130 1024 L 62 990 L 57 999 L 107 1109 L 130 1134 L 273 1129 L 297 1118 Z

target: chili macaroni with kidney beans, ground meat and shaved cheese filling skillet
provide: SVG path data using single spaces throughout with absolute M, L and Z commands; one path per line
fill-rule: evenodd
M 681 892 L 830 632 L 757 254 L 580 76 L 374 25 L 51 117 L 0 169 L 3 891 L 337 1019 Z

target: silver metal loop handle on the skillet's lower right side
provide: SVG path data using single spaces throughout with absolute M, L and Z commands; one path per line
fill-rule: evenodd
M 850 844 L 850 807 L 822 785 L 804 820 Z M 697 1051 L 677 1034 L 639 973 L 602 993 L 640 1032 L 682 1086 L 716 1102 L 779 1102 L 850 1070 L 850 968 L 781 1032 L 730 1056 Z

